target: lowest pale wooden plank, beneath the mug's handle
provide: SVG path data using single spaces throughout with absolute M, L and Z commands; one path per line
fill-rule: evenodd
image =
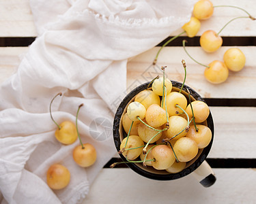
M 156 181 L 131 169 L 102 169 L 82 203 L 255 203 L 255 169 L 213 170 L 216 183 L 204 188 L 192 175 Z

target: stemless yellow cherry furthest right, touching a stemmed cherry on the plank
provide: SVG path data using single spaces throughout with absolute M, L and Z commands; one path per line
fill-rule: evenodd
M 223 60 L 231 71 L 240 71 L 244 68 L 246 58 L 239 48 L 229 48 L 225 52 Z

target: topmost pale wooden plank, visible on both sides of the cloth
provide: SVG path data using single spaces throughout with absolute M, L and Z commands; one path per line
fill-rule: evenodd
M 213 0 L 214 5 L 223 5 L 221 0 Z M 253 0 L 246 3 L 240 0 L 227 0 L 225 5 L 238 5 L 248 10 L 252 16 L 256 16 L 256 5 Z M 201 29 L 197 35 L 203 31 L 213 29 L 218 32 L 226 22 L 236 16 L 246 16 L 244 12 L 232 8 L 215 8 L 214 15 L 208 20 L 201 22 Z M 181 25 L 182 27 L 182 25 Z M 29 0 L 0 0 L 0 37 L 35 37 L 37 32 L 33 24 L 33 16 L 29 7 Z M 239 19 L 226 27 L 222 36 L 255 36 L 255 22 L 249 19 Z M 181 33 L 179 29 L 170 35 Z

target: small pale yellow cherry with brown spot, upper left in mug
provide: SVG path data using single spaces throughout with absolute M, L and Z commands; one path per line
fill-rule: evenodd
M 127 114 L 132 121 L 139 121 L 137 118 L 138 116 L 141 118 L 141 120 L 143 120 L 145 118 L 146 109 L 141 103 L 133 101 L 127 107 Z

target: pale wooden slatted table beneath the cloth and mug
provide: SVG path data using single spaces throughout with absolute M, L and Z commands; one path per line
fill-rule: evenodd
M 214 5 L 241 6 L 256 16 L 253 0 L 212 2 Z M 244 16 L 240 10 L 216 8 L 212 18 L 201 22 L 197 35 L 207 29 L 219 31 L 225 22 L 240 15 Z M 181 31 L 171 33 L 171 36 Z M 36 35 L 29 0 L 0 0 L 0 83 L 16 72 L 19 56 L 27 52 L 27 46 Z M 187 47 L 187 50 L 201 63 L 209 64 L 215 59 L 222 60 L 227 48 L 240 48 L 246 55 L 246 66 L 238 73 L 230 71 L 228 80 L 223 84 L 206 82 L 204 67 L 191 61 L 182 48 L 184 37 L 173 41 L 158 57 L 158 65 L 167 65 L 167 75 L 177 81 L 183 80 L 181 60 L 185 59 L 188 65 L 186 84 L 197 90 L 210 105 L 215 133 L 207 160 L 216 173 L 216 183 L 210 188 L 203 188 L 191 175 L 168 182 L 149 180 L 128 168 L 110 169 L 106 165 L 83 203 L 256 203 L 256 22 L 236 20 L 221 32 L 221 36 L 224 37 L 224 46 L 214 54 L 201 50 L 199 37 L 188 39 L 195 45 Z M 134 82 L 147 81 L 149 74 L 154 73 L 154 69 L 149 67 L 159 48 L 130 59 L 128 88 Z M 115 157 L 119 156 L 116 154 Z

